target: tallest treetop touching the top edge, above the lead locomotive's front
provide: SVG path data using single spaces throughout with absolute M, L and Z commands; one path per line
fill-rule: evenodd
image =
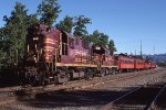
M 61 12 L 58 0 L 43 0 L 38 6 L 40 21 L 44 24 L 52 25 Z

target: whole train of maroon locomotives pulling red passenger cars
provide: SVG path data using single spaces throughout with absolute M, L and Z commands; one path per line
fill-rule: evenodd
M 19 76 L 23 84 L 45 85 L 155 67 L 139 58 L 112 56 L 107 52 L 62 30 L 35 24 L 28 29 L 23 69 Z

